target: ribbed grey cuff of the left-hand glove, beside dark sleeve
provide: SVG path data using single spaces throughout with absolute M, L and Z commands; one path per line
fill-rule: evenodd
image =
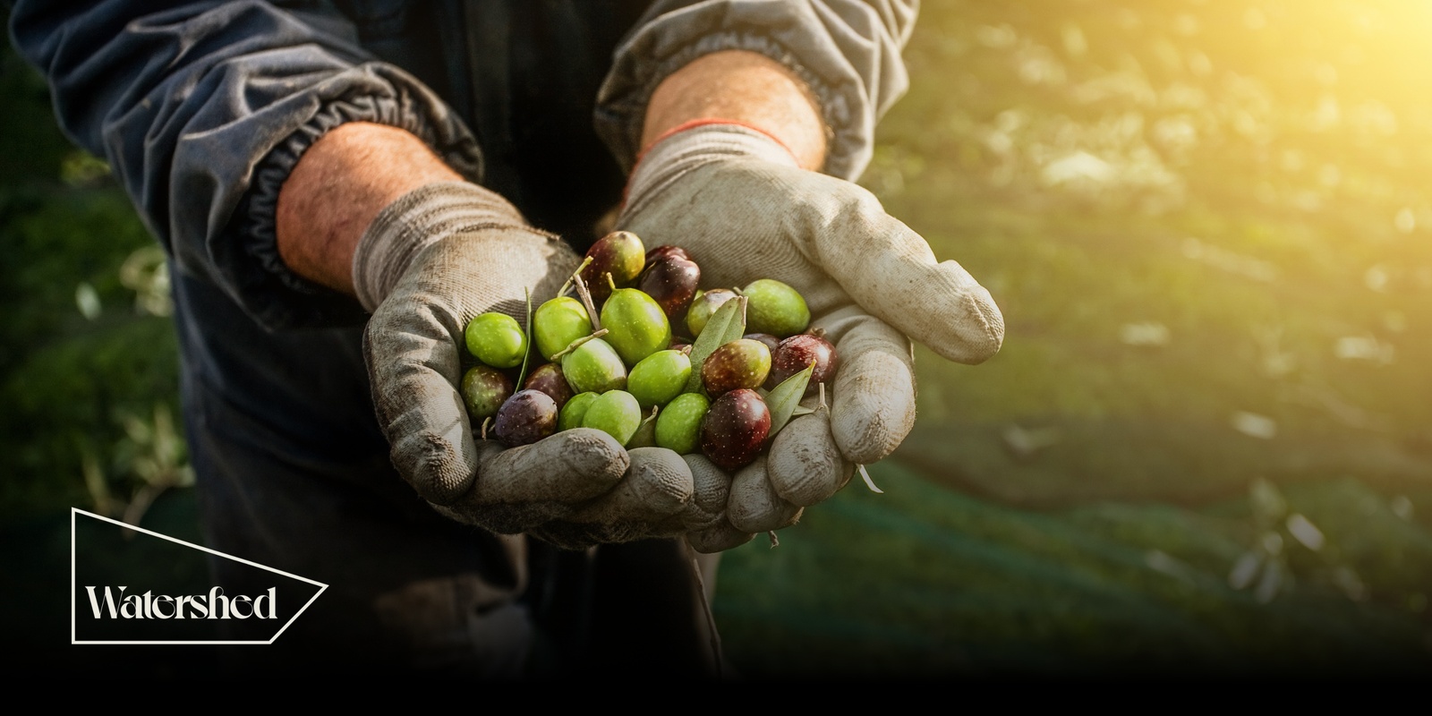
M 354 292 L 372 312 L 422 249 L 458 232 L 527 226 L 516 206 L 467 182 L 440 182 L 414 189 L 385 206 L 354 252 Z

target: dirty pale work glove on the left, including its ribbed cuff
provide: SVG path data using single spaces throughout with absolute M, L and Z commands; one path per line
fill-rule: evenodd
M 569 547 L 644 537 L 654 520 L 676 534 L 683 510 L 710 521 L 695 510 L 682 460 L 629 455 L 606 432 L 571 430 L 513 450 L 474 441 L 457 388 L 468 321 L 487 311 L 526 321 L 524 289 L 538 305 L 577 261 L 477 185 L 428 185 L 379 212 L 354 256 L 354 286 L 374 312 L 364 355 L 394 465 L 448 517 Z

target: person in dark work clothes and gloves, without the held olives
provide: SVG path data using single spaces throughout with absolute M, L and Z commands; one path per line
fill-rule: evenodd
M 329 584 L 258 662 L 715 673 L 692 548 L 793 523 L 775 471 L 823 480 L 819 501 L 888 455 L 915 417 L 906 335 L 969 364 L 1002 341 L 988 292 L 852 183 L 908 84 L 915 14 L 16 1 L 62 127 L 170 258 L 206 543 Z M 829 410 L 788 427 L 799 441 L 733 478 L 589 430 L 474 440 L 463 326 L 523 316 L 613 226 L 686 248 L 705 286 L 806 296 L 842 368 Z

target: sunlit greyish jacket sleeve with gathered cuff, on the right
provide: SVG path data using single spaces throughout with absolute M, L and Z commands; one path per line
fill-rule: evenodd
M 876 120 L 909 86 L 901 50 L 918 6 L 918 0 L 657 1 L 617 47 L 597 97 L 597 132 L 630 170 L 656 86 L 702 54 L 750 50 L 805 80 L 832 135 L 823 170 L 855 179 L 871 160 Z

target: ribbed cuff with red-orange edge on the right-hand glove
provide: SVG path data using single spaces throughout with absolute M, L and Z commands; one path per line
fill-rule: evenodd
M 800 168 L 790 149 L 776 137 L 725 119 L 697 119 L 662 135 L 639 159 L 627 180 L 621 213 L 642 209 L 642 205 L 663 189 L 712 162 L 753 159 Z

